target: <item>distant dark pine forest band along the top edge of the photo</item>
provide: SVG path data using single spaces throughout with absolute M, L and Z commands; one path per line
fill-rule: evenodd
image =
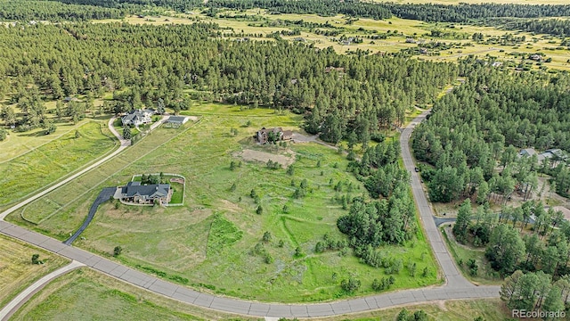
M 355 18 L 387 19 L 398 18 L 419 21 L 470 22 L 489 18 L 542 18 L 570 16 L 570 5 L 529 5 L 529 4 L 371 4 L 361 1 L 337 0 L 213 0 L 204 3 L 200 0 L 60 0 L 62 4 L 82 4 L 84 6 L 62 7 L 51 1 L 0 2 L 0 12 L 6 19 L 29 19 L 33 14 L 45 18 L 100 19 L 103 16 L 118 17 L 121 12 L 134 12 L 145 6 L 160 6 L 186 12 L 195 8 L 246 10 L 261 8 L 273 13 L 315 13 L 322 16 L 345 14 Z M 31 5 L 30 5 L 31 4 Z M 94 6 L 106 9 L 94 9 Z M 89 18 L 91 16 L 91 18 Z M 47 19 L 45 19 L 47 20 Z

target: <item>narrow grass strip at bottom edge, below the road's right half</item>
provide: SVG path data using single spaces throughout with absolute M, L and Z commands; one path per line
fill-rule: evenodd
M 403 308 L 382 309 L 372 312 L 345 315 L 339 317 L 319 317 L 315 321 L 377 321 L 395 320 L 398 313 Z M 457 321 L 473 320 L 476 317 L 483 317 L 484 320 L 503 320 L 510 317 L 510 311 L 505 309 L 504 304 L 499 299 L 481 300 L 448 300 L 437 301 L 430 304 L 420 304 L 406 307 L 408 311 L 414 312 L 424 310 L 429 320 L 436 321 Z

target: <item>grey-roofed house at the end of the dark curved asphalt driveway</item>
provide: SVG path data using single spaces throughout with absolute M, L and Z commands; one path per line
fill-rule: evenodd
M 120 199 L 123 202 L 153 204 L 158 201 L 166 205 L 172 196 L 169 184 L 141 185 L 141 182 L 129 182 L 126 186 L 119 188 L 121 189 Z

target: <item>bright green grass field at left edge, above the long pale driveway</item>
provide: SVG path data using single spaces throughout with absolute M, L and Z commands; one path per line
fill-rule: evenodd
M 115 142 L 102 122 L 88 122 L 11 161 L 0 163 L 0 209 L 110 152 Z

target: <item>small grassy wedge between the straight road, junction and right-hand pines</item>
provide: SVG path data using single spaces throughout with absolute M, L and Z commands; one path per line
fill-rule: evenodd
M 491 268 L 491 264 L 485 258 L 485 251 L 483 249 L 471 249 L 467 246 L 462 246 L 458 244 L 454 238 L 452 238 L 451 229 L 443 227 L 441 228 L 442 234 L 444 235 L 447 247 L 452 252 L 453 259 L 455 263 L 460 267 L 460 271 L 463 276 L 467 277 L 469 281 L 474 284 L 491 284 L 491 285 L 501 285 L 502 279 L 500 277 L 493 277 L 494 270 Z M 469 268 L 467 262 L 469 259 L 475 259 L 478 273 L 476 276 L 471 276 L 469 274 Z M 463 262 L 463 264 L 460 264 Z

